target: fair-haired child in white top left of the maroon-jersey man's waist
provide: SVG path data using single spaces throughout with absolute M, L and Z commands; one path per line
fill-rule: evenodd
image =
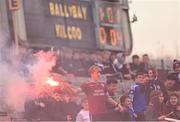
M 81 101 L 81 106 L 83 109 L 78 113 L 76 117 L 76 122 L 90 122 L 90 117 L 89 117 L 89 105 L 87 98 L 84 98 Z

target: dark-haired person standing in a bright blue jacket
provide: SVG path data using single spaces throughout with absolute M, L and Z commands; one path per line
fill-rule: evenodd
M 129 96 L 133 100 L 133 109 L 137 114 L 137 121 L 144 121 L 144 111 L 146 108 L 146 98 L 145 98 L 145 82 L 143 79 L 143 73 L 137 72 L 135 76 L 135 83 L 131 86 L 129 91 Z

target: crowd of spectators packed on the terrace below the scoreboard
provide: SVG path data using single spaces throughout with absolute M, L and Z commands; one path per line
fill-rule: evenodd
M 66 52 L 59 54 L 54 71 L 67 77 L 90 77 L 80 88 L 74 89 L 74 98 L 64 93 L 64 99 L 43 96 L 43 99 L 25 104 L 27 120 L 51 121 L 158 121 L 180 119 L 180 60 L 173 60 L 173 72 L 164 81 L 159 80 L 156 67 L 144 54 L 132 56 L 125 63 L 123 53 Z M 102 81 L 101 75 L 106 76 Z M 104 80 L 104 79 L 103 79 Z M 118 98 L 119 81 L 133 81 L 130 90 Z M 76 97 L 77 97 L 76 96 Z M 81 99 L 81 103 L 77 103 Z M 43 113 L 43 114 L 42 114 Z

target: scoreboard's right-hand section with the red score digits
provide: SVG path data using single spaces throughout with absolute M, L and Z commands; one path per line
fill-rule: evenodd
M 96 1 L 98 44 L 101 49 L 124 51 L 119 2 Z

